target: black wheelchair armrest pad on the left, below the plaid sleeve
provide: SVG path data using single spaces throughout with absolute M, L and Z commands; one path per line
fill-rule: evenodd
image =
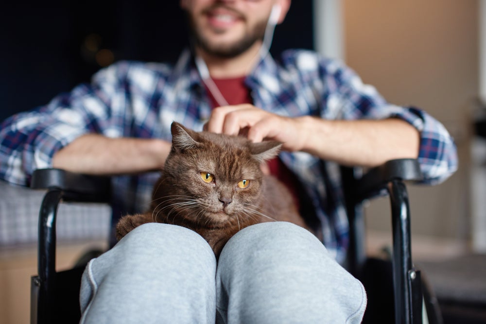
M 31 188 L 63 192 L 65 201 L 109 202 L 110 178 L 70 172 L 62 169 L 38 169 L 32 174 Z

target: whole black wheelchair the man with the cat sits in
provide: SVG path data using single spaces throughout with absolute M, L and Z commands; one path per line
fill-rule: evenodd
M 364 323 L 442 323 L 434 295 L 411 254 L 410 209 L 406 182 L 422 178 L 415 159 L 391 160 L 363 174 L 341 167 L 350 226 L 347 270 L 360 279 L 368 294 Z M 81 275 L 90 257 L 73 269 L 55 271 L 56 212 L 64 202 L 110 202 L 110 178 L 39 169 L 33 189 L 47 189 L 39 211 L 38 274 L 31 278 L 31 323 L 78 323 Z M 391 260 L 369 258 L 364 251 L 364 203 L 388 195 L 391 205 L 393 253 Z M 425 306 L 425 307 L 423 307 Z M 424 308 L 424 309 L 423 309 Z

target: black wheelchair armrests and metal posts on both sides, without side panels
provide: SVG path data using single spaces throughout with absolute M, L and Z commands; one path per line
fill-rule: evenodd
M 422 178 L 417 160 L 388 161 L 373 168 L 363 177 L 355 169 L 342 169 L 350 221 L 350 250 L 348 269 L 357 274 L 364 265 L 364 220 L 362 203 L 377 194 L 390 196 L 393 228 L 393 286 L 395 323 L 422 323 L 422 291 L 420 272 L 413 267 L 410 240 L 410 208 L 405 181 Z M 31 323 L 56 323 L 54 309 L 55 271 L 55 221 L 57 206 L 63 201 L 110 201 L 110 180 L 105 177 L 87 176 L 59 169 L 36 170 L 31 188 L 48 189 L 39 212 L 38 275 L 32 277 Z M 79 290 L 78 290 L 79 291 Z

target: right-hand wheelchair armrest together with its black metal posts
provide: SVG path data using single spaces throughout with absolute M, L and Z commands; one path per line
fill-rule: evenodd
M 392 272 L 395 323 L 422 323 L 422 284 L 420 271 L 414 268 L 411 251 L 410 206 L 406 181 L 419 181 L 422 173 L 415 159 L 398 159 L 371 169 L 364 176 L 354 169 L 342 168 L 350 223 L 348 268 L 360 277 L 366 261 L 364 251 L 363 202 L 388 194 L 391 205 L 393 238 Z

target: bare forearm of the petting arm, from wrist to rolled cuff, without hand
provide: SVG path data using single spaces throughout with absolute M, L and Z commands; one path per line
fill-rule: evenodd
M 304 119 L 308 136 L 302 151 L 325 160 L 372 167 L 391 159 L 418 156 L 420 134 L 400 119 Z

